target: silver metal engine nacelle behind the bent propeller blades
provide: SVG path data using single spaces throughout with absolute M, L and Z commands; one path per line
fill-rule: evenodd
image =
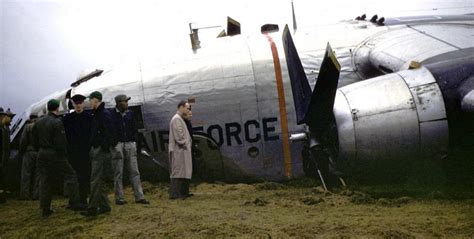
M 397 160 L 447 153 L 443 95 L 426 68 L 339 88 L 333 110 L 340 159 Z

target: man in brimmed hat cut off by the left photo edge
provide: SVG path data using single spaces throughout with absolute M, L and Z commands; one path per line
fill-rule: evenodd
M 4 177 L 10 159 L 10 123 L 15 117 L 10 109 L 6 112 L 0 107 L 0 203 L 6 201 Z

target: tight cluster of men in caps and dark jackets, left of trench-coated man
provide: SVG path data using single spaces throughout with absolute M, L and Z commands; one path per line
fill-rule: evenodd
M 39 198 L 43 217 L 53 213 L 50 187 L 57 176 L 64 179 L 65 193 L 69 197 L 68 208 L 83 210 L 81 214 L 84 216 L 111 211 L 106 186 L 112 177 L 115 203 L 126 204 L 123 192 L 125 165 L 130 173 L 135 202 L 149 204 L 143 194 L 138 171 L 138 131 L 133 114 L 128 110 L 130 97 L 117 95 L 116 107 L 110 110 L 105 109 L 100 92 L 94 91 L 88 98 L 92 113 L 84 111 L 86 97 L 77 94 L 71 97 L 74 111 L 66 114 L 62 120 L 59 101 L 48 101 L 48 114 L 31 123 L 31 126 L 27 125 L 22 134 L 22 145 L 28 145 L 27 139 L 31 139 L 32 147 L 28 151 L 37 152 L 36 166 L 40 175 Z M 27 154 L 23 155 L 23 159 L 28 159 Z M 23 170 L 27 168 L 23 167 Z M 22 195 L 27 197 L 31 195 L 31 190 L 29 187 L 24 189 L 23 184 L 30 185 L 35 180 L 29 178 L 22 181 Z

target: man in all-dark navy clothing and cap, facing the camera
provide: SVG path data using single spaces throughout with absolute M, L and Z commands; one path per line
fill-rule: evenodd
M 87 205 L 91 174 L 89 140 L 92 116 L 84 111 L 85 99 L 85 96 L 79 94 L 71 97 L 74 112 L 64 116 L 63 120 L 68 142 L 68 159 L 79 180 L 79 198 L 83 205 Z

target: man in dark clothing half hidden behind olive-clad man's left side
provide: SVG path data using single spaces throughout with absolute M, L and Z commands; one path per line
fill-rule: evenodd
M 20 138 L 19 155 L 23 159 L 21 163 L 20 199 L 31 200 L 38 198 L 39 173 L 36 168 L 38 152 L 33 146 L 33 126 L 38 116 L 30 115 Z

